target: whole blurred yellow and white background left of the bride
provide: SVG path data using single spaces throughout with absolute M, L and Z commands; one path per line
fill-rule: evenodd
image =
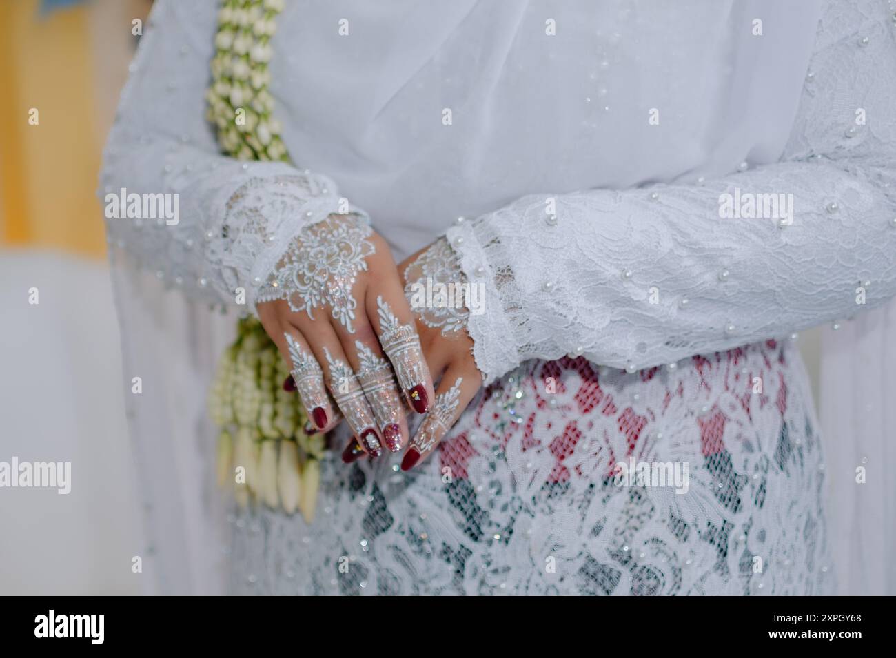
M 137 594 L 145 544 L 96 190 L 150 3 L 49 2 L 0 0 L 0 460 L 70 461 L 73 488 L 0 494 L 15 538 L 0 541 L 0 594 Z

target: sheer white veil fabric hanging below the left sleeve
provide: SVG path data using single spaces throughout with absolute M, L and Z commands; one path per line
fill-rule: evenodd
M 224 594 L 227 496 L 216 483 L 217 430 L 206 411 L 236 315 L 166 291 L 154 274 L 112 261 L 123 379 L 143 515 L 146 594 Z

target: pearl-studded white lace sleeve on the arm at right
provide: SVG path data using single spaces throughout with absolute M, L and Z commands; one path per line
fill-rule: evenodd
M 896 19 L 885 0 L 828 4 L 780 162 L 702 186 L 527 196 L 448 230 L 485 286 L 469 330 L 487 381 L 568 353 L 673 363 L 896 294 Z M 720 218 L 735 188 L 792 194 L 792 224 Z

